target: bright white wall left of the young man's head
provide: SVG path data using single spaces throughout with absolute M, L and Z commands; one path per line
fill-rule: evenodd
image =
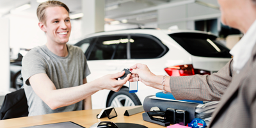
M 9 15 L 8 17 L 10 18 L 10 47 L 14 56 L 17 56 L 20 48 L 32 49 L 46 43 L 45 33 L 38 27 L 36 17 L 20 15 Z

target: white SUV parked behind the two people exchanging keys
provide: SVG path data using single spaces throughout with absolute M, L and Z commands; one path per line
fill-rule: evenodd
M 231 58 L 229 49 L 216 36 L 202 31 L 127 29 L 95 33 L 77 44 L 83 49 L 93 81 L 136 63 L 148 65 L 156 75 L 189 76 L 218 72 Z M 119 92 L 102 90 L 92 95 L 93 109 L 143 104 L 156 90 L 138 82 L 138 92 L 129 93 L 129 82 Z

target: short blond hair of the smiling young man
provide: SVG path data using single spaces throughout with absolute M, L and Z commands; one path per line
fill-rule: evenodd
M 69 13 L 68 6 L 60 1 L 46 1 L 44 3 L 40 3 L 36 10 L 37 18 L 40 22 L 45 23 L 45 9 L 48 7 L 54 7 L 54 6 L 62 6 L 64 7 L 67 12 Z

